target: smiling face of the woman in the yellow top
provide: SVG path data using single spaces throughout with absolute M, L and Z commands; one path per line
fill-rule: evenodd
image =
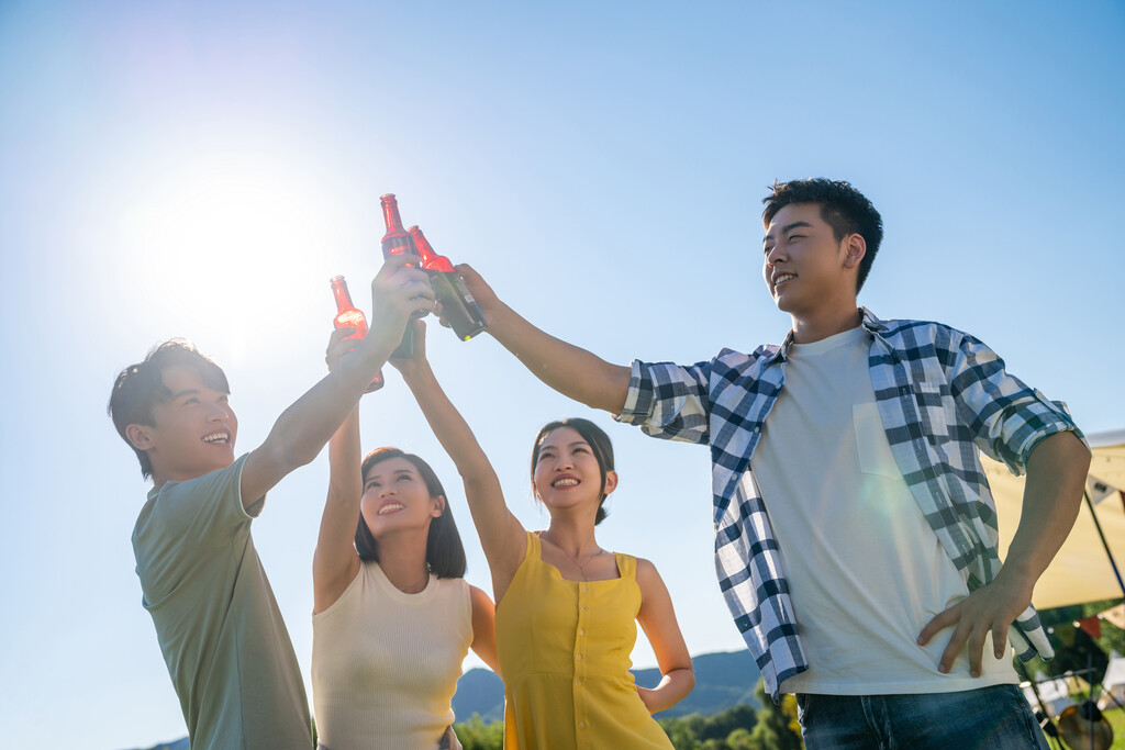
M 603 471 L 590 443 L 574 427 L 547 433 L 536 449 L 536 497 L 551 514 L 590 508 L 596 514 L 604 495 L 616 487 L 616 472 Z

